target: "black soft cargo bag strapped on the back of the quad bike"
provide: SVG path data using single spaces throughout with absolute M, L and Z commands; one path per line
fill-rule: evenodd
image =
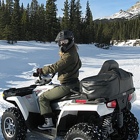
M 81 93 L 86 94 L 89 100 L 97 98 L 113 100 L 124 96 L 124 92 L 134 91 L 132 74 L 121 68 L 84 78 L 80 85 Z

